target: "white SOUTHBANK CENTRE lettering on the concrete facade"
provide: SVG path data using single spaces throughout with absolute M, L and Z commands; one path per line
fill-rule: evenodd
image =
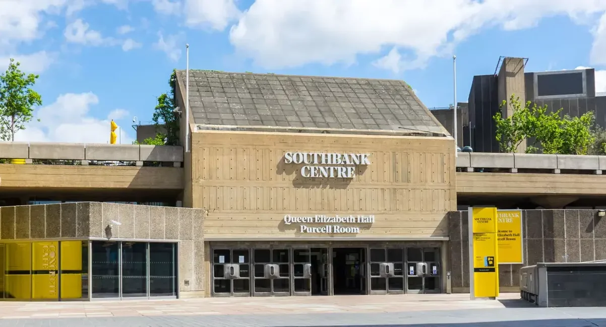
M 284 163 L 305 164 L 301 167 L 301 176 L 306 178 L 353 178 L 356 175 L 356 166 L 370 164 L 368 157 L 370 154 L 286 152 Z

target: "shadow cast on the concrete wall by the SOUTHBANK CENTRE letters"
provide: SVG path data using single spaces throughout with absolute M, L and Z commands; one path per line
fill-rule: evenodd
M 355 167 L 354 178 L 308 178 L 301 175 L 301 167 L 305 164 L 287 164 L 284 162 L 284 157 L 280 159 L 276 165 L 276 173 L 278 175 L 295 175 L 293 178 L 293 186 L 298 189 L 347 189 L 347 187 L 358 176 L 364 175 L 368 166 L 359 165 Z

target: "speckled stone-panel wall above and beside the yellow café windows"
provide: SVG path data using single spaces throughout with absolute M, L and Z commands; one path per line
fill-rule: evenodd
M 121 225 L 108 228 L 111 221 Z M 0 207 L 0 239 L 103 238 L 179 242 L 179 290 L 204 296 L 204 210 L 99 202 Z M 185 280 L 188 285 L 185 285 Z

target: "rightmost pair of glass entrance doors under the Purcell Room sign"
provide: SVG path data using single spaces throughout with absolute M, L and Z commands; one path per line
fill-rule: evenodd
M 406 249 L 408 294 L 441 293 L 439 248 Z

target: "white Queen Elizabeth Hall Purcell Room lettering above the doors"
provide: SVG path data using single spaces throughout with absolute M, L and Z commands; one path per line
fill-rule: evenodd
M 307 224 L 372 224 L 375 222 L 375 215 L 348 215 L 348 216 L 327 216 L 327 215 L 315 215 L 315 216 L 284 216 L 284 224 L 301 224 L 299 225 L 300 233 L 314 233 L 314 234 L 357 234 L 360 232 L 358 226 L 342 226 L 342 225 L 321 225 L 318 227 L 311 227 Z

